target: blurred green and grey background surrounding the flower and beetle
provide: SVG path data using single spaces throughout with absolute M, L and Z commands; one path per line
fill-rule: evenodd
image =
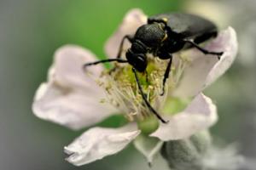
M 240 49 L 235 64 L 206 90 L 218 105 L 219 122 L 211 130 L 226 144 L 236 142 L 241 154 L 255 160 L 255 0 L 0 0 L 1 170 L 150 169 L 132 145 L 102 161 L 74 167 L 64 160 L 63 146 L 84 130 L 44 122 L 31 111 L 55 49 L 79 44 L 103 58 L 104 42 L 131 8 L 142 8 L 148 15 L 197 13 L 220 28 L 236 29 Z M 165 162 L 157 161 L 152 169 L 159 168 L 167 169 Z

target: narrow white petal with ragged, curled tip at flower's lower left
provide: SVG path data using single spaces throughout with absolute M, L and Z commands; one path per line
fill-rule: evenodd
M 120 128 L 93 127 L 65 147 L 67 161 L 81 166 L 123 150 L 140 133 L 135 124 Z

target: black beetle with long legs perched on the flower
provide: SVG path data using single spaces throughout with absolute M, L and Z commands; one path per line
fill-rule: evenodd
M 153 54 L 160 59 L 168 59 L 166 71 L 162 81 L 162 93 L 165 94 L 165 83 L 169 77 L 172 65 L 172 54 L 186 48 L 197 48 L 203 54 L 213 54 L 220 59 L 223 52 L 212 52 L 201 48 L 199 44 L 206 42 L 212 37 L 218 35 L 218 29 L 210 20 L 206 20 L 195 14 L 170 13 L 156 14 L 148 17 L 147 24 L 138 27 L 134 35 L 123 37 L 119 45 L 119 52 L 115 59 L 102 59 L 96 62 L 84 64 L 84 68 L 89 65 L 97 65 L 105 62 L 128 63 L 132 66 L 132 71 L 136 78 L 140 94 L 143 96 L 148 109 L 157 116 L 161 122 L 166 123 L 154 108 L 148 102 L 143 88 L 137 77 L 138 72 L 145 72 L 148 65 L 147 54 Z M 123 45 L 127 39 L 131 42 L 131 48 L 125 53 L 126 59 L 121 59 Z

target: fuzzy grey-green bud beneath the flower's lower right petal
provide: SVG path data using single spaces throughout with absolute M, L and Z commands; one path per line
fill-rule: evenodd
M 209 133 L 202 132 L 189 139 L 172 140 L 166 142 L 161 150 L 169 167 L 175 170 L 201 170 L 202 155 L 205 155 L 211 143 Z

